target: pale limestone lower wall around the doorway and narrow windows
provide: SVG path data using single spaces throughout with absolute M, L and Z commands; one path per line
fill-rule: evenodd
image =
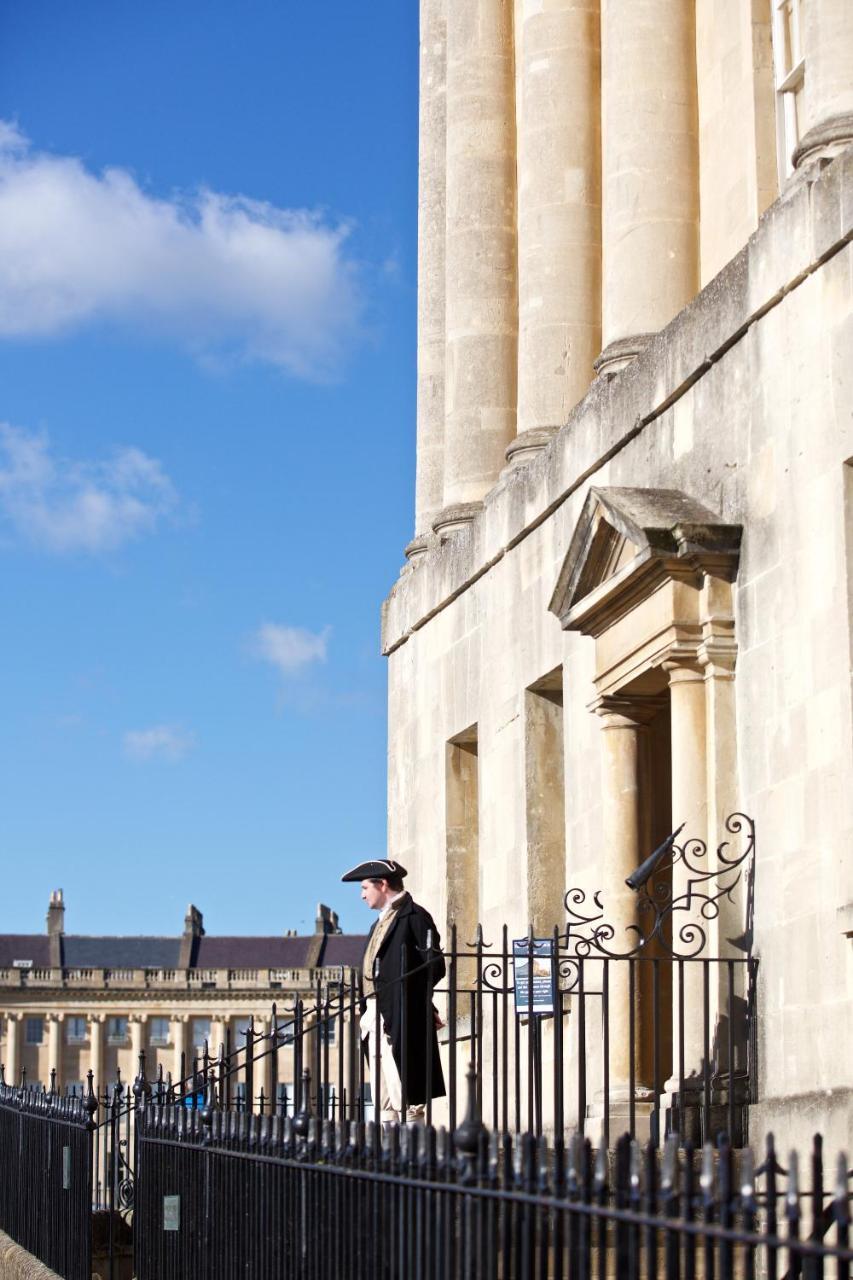
M 730 750 L 758 828 L 753 1135 L 783 1146 L 815 1128 L 853 1139 L 853 151 L 817 172 L 470 526 L 403 570 L 383 614 L 389 856 L 446 920 L 447 742 L 475 726 L 489 940 L 526 927 L 525 691 L 560 668 L 565 882 L 601 883 L 594 643 L 548 612 L 589 486 L 680 489 L 743 526 Z

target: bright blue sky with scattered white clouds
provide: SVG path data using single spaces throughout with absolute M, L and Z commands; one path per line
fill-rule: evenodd
M 0 10 L 0 931 L 369 923 L 416 5 Z

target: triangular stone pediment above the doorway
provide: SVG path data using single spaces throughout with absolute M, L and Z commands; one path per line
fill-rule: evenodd
M 574 628 L 581 602 L 607 599 L 638 575 L 695 566 L 731 576 L 740 526 L 679 489 L 593 488 L 587 494 L 549 609 Z

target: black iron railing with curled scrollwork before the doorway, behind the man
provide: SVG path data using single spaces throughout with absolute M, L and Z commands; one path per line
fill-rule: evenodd
M 410 986 L 425 979 L 424 1046 L 435 1014 L 443 1024 L 446 1098 L 428 1097 L 426 1121 L 456 1126 L 471 1061 L 478 1102 L 500 1132 L 587 1129 L 610 1146 L 622 1132 L 660 1144 L 669 1133 L 701 1143 L 725 1129 L 744 1144 L 757 1084 L 753 852 L 752 820 L 734 814 L 713 855 L 675 837 L 656 850 L 631 878 L 628 919 L 622 910 L 613 923 L 601 893 L 570 890 L 566 924 L 549 938 L 533 929 L 514 938 L 505 925 L 497 942 L 482 928 L 466 941 L 452 928 L 435 986 L 432 940 L 423 955 L 403 950 L 400 974 L 383 980 L 407 1007 Z M 537 969 L 549 975 L 544 1002 Z M 142 1074 L 137 1092 L 201 1097 L 213 1075 L 227 1108 L 284 1119 L 309 1069 L 318 1116 L 364 1121 L 373 1111 L 362 1007 L 357 972 L 342 970 L 337 983 L 318 984 L 313 1001 L 284 1012 L 273 1006 L 269 1030 L 250 1021 L 242 1044 L 205 1048 L 181 1082 Z M 403 1097 L 409 1065 L 405 1053 L 396 1064 Z M 428 1096 L 430 1070 L 426 1053 Z

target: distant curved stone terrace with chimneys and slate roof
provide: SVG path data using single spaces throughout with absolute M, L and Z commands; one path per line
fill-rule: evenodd
M 325 1000 L 359 969 L 364 937 L 342 934 L 328 906 L 318 908 L 315 932 L 282 937 L 215 937 L 190 906 L 174 937 L 68 934 L 61 890 L 51 895 L 42 934 L 0 934 L 0 1062 L 8 1083 L 22 1074 L 47 1087 L 51 1071 L 63 1092 L 82 1089 L 91 1070 L 99 1088 L 132 1082 L 140 1052 L 146 1075 L 182 1078 L 193 1056 L 220 1044 L 269 1033 L 272 1005 L 287 1024 L 295 1002 L 306 1010 Z M 334 1037 L 334 1033 L 332 1033 Z M 332 1059 L 337 1046 L 329 1044 Z M 278 1079 L 292 1079 L 287 1030 Z M 270 1094 L 270 1059 L 260 1060 L 254 1087 Z M 241 1084 L 242 1079 L 242 1084 Z M 234 1082 L 245 1087 L 245 1071 Z M 291 1100 L 292 1101 L 292 1100 Z

